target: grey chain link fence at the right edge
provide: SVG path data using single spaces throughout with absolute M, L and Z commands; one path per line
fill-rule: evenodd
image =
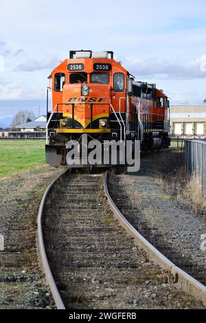
M 206 140 L 185 140 L 185 164 L 190 174 L 201 179 L 206 193 Z

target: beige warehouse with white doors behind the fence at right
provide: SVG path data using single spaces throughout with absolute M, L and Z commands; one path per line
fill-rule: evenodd
M 206 104 L 171 105 L 170 126 L 174 137 L 205 137 Z

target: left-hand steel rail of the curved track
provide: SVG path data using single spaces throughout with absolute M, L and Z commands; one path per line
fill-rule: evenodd
M 45 277 L 49 285 L 49 288 L 52 292 L 52 296 L 54 298 L 54 302 L 56 304 L 57 309 L 65 309 L 65 305 L 62 302 L 62 298 L 60 297 L 60 293 L 58 291 L 58 288 L 56 287 L 56 282 L 54 280 L 52 271 L 49 267 L 49 262 L 47 260 L 47 254 L 45 252 L 45 245 L 43 241 L 42 219 L 43 219 L 43 210 L 45 206 L 45 201 L 47 199 L 49 192 L 52 190 L 54 183 L 56 183 L 56 181 L 58 181 L 58 179 L 60 179 L 60 177 L 62 177 L 62 175 L 64 175 L 65 172 L 67 171 L 68 169 L 61 172 L 60 175 L 58 175 L 56 179 L 54 179 L 54 181 L 52 181 L 52 183 L 50 183 L 47 189 L 45 190 L 45 193 L 43 194 L 43 198 L 41 200 L 40 207 L 38 209 L 38 219 L 37 219 L 38 250 L 40 254 L 41 265 L 43 266 L 43 271 L 45 273 Z

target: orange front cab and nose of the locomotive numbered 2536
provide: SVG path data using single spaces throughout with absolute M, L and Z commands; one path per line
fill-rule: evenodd
M 110 58 L 108 58 L 110 54 Z M 125 112 L 127 71 L 113 60 L 113 52 L 70 52 L 70 59 L 52 71 L 52 111 L 56 133 L 110 133 L 108 118 Z M 113 111 L 114 110 L 114 111 Z M 57 114 L 55 114 L 57 113 Z M 61 116 L 61 119 L 59 119 Z M 100 119 L 106 121 L 100 127 Z

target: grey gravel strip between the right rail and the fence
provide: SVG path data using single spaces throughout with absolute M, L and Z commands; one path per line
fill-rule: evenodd
M 141 170 L 112 175 L 111 195 L 126 219 L 173 263 L 206 285 L 205 219 L 167 194 L 154 174 L 154 158 L 143 155 Z

